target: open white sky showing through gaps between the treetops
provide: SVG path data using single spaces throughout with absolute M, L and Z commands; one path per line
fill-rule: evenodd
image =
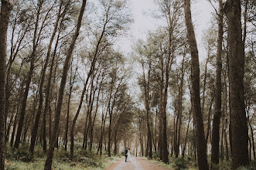
M 160 19 L 152 18 L 151 13 L 156 9 L 154 0 L 130 0 L 131 12 L 134 16 L 134 23 L 128 31 L 128 35 L 118 42 L 122 52 L 131 53 L 131 46 L 138 39 L 145 39 L 149 30 L 154 30 L 163 23 Z M 199 50 L 200 61 L 205 58 L 206 53 L 202 45 L 203 30 L 209 27 L 213 7 L 207 0 L 192 0 L 193 25 L 196 31 L 196 40 Z

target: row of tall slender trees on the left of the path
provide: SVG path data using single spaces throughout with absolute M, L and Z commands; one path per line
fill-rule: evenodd
M 94 145 L 101 155 L 108 143 L 109 156 L 113 144 L 118 152 L 119 127 L 131 122 L 134 107 L 125 58 L 114 49 L 131 22 L 127 5 L 2 1 L 1 169 L 8 141 L 14 148 L 29 142 L 31 154 L 36 144 L 48 148 L 45 169 L 60 143 L 67 150 L 70 141 L 73 158 L 76 134 L 83 149 Z

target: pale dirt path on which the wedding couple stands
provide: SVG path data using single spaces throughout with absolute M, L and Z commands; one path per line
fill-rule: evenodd
M 125 158 L 122 158 L 120 161 L 110 165 L 106 170 L 167 170 L 166 168 L 160 165 L 157 165 L 153 162 L 149 162 L 146 158 L 142 157 L 131 157 L 132 162 L 125 162 Z

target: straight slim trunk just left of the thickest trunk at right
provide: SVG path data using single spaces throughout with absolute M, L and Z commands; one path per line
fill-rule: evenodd
M 222 39 L 223 39 L 223 0 L 219 0 L 219 23 L 217 39 L 217 69 L 215 80 L 215 108 L 213 114 L 213 132 L 212 132 L 212 155 L 211 165 L 219 164 L 219 142 L 220 142 L 220 117 L 221 117 L 221 70 L 222 70 Z

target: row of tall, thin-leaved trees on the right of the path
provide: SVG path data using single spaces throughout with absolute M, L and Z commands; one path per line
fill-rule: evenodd
M 236 169 L 249 164 L 251 151 L 255 158 L 255 3 L 220 0 L 210 4 L 216 14 L 204 33 L 207 59 L 200 67 L 190 1 L 158 1 L 156 15 L 164 17 L 167 25 L 149 32 L 145 41 L 138 40 L 133 53 L 141 70 L 138 85 L 145 106 L 137 115 L 137 136 L 150 158 L 155 150 L 168 163 L 168 151 L 176 158 L 186 152 L 197 156 L 199 169 L 209 169 L 224 155 L 227 161 L 231 155 Z

